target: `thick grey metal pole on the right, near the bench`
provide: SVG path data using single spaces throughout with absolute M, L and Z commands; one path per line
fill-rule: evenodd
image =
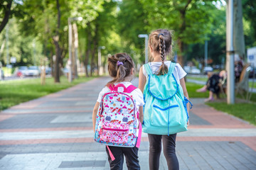
M 228 46 L 228 52 L 227 52 L 227 66 L 228 66 L 228 104 L 234 104 L 235 103 L 235 69 L 234 69 L 234 47 L 233 47 L 233 0 L 229 0 L 228 3 L 228 15 L 229 21 L 228 24 L 228 37 L 229 37 L 229 43 Z

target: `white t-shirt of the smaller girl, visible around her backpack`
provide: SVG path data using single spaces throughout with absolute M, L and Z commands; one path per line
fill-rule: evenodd
M 128 87 L 130 85 L 132 85 L 131 82 L 128 82 L 128 81 L 124 81 L 124 82 L 119 82 L 119 83 L 116 83 L 114 85 L 117 85 L 117 84 L 124 84 L 125 87 Z M 102 101 L 102 96 L 107 92 L 107 91 L 110 91 L 110 89 L 105 86 L 102 91 L 100 91 L 100 94 L 97 98 L 97 102 L 101 102 Z M 137 107 L 137 111 L 139 111 L 139 106 L 144 106 L 144 99 L 143 99 L 143 94 L 142 94 L 142 91 L 140 89 L 135 89 L 134 91 L 131 92 L 130 96 L 132 96 L 132 98 L 134 99 L 134 102 L 136 103 L 136 107 Z

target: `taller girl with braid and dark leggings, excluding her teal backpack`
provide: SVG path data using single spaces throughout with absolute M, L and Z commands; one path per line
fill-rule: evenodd
M 169 30 L 159 29 L 154 30 L 149 35 L 149 52 L 151 62 L 149 67 L 151 72 L 156 75 L 164 75 L 168 73 L 171 61 L 166 60 L 166 55 L 171 54 L 171 32 Z M 186 90 L 186 84 L 184 77 L 186 72 L 182 69 L 181 65 L 176 63 L 174 68 L 174 77 L 179 86 L 183 89 L 183 94 L 188 98 L 188 92 Z M 147 75 L 144 65 L 139 70 L 139 89 L 144 91 L 149 75 Z M 147 102 L 147 101 L 146 101 Z M 153 107 L 153 106 L 152 106 Z M 188 105 L 187 105 L 188 108 Z M 170 113 L 176 114 L 176 113 Z M 150 113 L 144 113 L 144 118 L 150 115 Z M 189 122 L 187 123 L 189 124 Z M 154 135 L 149 134 L 149 169 L 159 169 L 159 158 L 161 154 L 161 140 L 163 141 L 163 150 L 168 168 L 179 169 L 178 159 L 176 157 L 176 133 L 169 135 Z

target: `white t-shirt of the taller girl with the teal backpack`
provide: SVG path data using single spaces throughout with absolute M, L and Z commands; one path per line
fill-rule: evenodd
M 150 66 L 150 69 L 153 72 L 153 74 L 155 74 L 159 70 L 159 67 L 161 66 L 161 64 L 162 64 L 162 62 L 149 62 L 149 66 Z M 166 61 L 166 62 L 164 62 L 164 64 L 166 64 L 166 66 L 169 68 L 171 61 Z M 142 66 L 142 72 L 145 75 L 145 77 L 147 77 L 144 65 Z M 186 72 L 183 70 L 181 65 L 178 63 L 176 63 L 176 65 L 175 65 L 173 74 L 174 74 L 174 77 L 175 77 L 176 81 L 178 82 L 178 84 L 180 84 L 179 80 L 186 76 Z

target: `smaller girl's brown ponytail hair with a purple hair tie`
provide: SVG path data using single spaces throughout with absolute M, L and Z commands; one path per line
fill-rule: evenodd
M 113 77 L 112 81 L 107 83 L 107 86 L 116 82 L 122 82 L 126 77 L 129 77 L 132 69 L 134 68 L 134 62 L 132 57 L 127 53 L 117 53 L 108 57 L 108 72 L 110 77 Z

